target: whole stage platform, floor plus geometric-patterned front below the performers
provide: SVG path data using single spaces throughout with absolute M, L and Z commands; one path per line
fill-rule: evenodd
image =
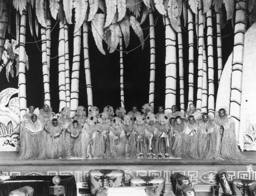
M 242 161 L 198 160 L 198 159 L 56 159 L 16 160 L 17 153 L 0 152 L 0 169 L 5 176 L 16 175 L 74 175 L 78 187 L 88 187 L 88 172 L 91 169 L 122 169 L 126 183 L 140 176 L 161 176 L 165 178 L 165 190 L 172 190 L 170 175 L 180 172 L 195 184 L 197 195 L 210 195 L 216 184 L 216 173 L 226 169 L 229 180 L 239 178 L 256 180 L 256 152 L 243 152 Z M 254 171 L 255 170 L 255 171 Z

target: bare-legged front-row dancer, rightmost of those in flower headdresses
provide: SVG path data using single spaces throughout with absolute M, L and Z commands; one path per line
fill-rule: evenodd
M 164 149 L 164 156 L 165 158 L 169 157 L 169 139 L 168 139 L 168 132 L 169 132 L 169 126 L 168 126 L 168 117 L 164 114 L 160 114 L 158 116 L 158 131 L 159 131 L 159 139 L 158 139 L 158 158 L 162 157 L 163 149 Z

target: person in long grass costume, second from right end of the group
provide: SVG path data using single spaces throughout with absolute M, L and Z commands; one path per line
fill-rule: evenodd
M 218 132 L 214 120 L 209 119 L 207 114 L 202 114 L 199 121 L 201 134 L 198 142 L 198 156 L 202 159 L 213 159 L 216 153 Z

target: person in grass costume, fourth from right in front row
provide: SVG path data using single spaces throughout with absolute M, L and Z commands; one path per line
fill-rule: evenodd
M 185 134 L 185 128 L 186 128 L 186 119 L 181 118 L 180 116 L 177 116 L 175 118 L 176 125 L 175 125 L 175 140 L 173 144 L 173 155 L 175 157 L 182 157 L 183 156 L 183 138 Z

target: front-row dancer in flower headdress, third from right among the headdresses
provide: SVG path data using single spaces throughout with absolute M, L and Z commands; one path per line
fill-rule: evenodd
M 138 115 L 134 117 L 134 131 L 131 135 L 131 142 L 136 146 L 137 157 L 143 158 L 146 153 L 145 149 L 145 118 L 143 115 Z

